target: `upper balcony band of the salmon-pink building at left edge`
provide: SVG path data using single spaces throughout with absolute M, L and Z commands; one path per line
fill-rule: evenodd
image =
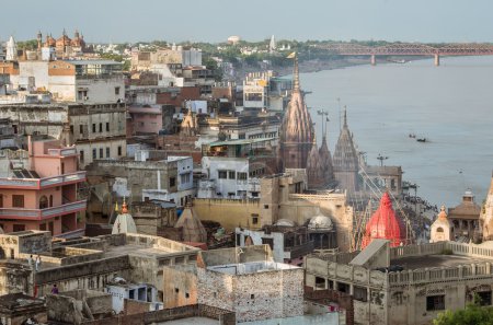
M 0 178 L 0 188 L 43 189 L 85 181 L 85 172 L 74 172 L 44 178 Z

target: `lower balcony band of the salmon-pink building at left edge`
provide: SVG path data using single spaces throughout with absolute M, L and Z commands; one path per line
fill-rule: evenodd
M 57 216 L 83 211 L 85 210 L 85 200 L 81 200 L 46 209 L 0 208 L 0 218 L 43 220 Z

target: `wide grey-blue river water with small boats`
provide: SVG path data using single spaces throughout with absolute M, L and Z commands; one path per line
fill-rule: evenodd
M 481 204 L 493 169 L 493 57 L 442 58 L 357 66 L 300 76 L 317 138 L 317 109 L 329 111 L 329 147 L 340 132 L 340 105 L 369 164 L 401 165 L 404 181 L 432 204 L 454 207 L 470 188 Z M 343 108 L 341 108 L 342 111 Z M 421 143 L 409 137 L 429 139 Z

